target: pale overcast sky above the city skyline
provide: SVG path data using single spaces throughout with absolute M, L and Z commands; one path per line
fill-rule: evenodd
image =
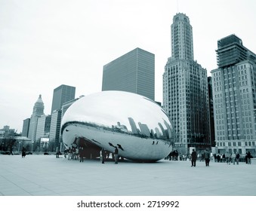
M 156 101 L 178 12 L 193 26 L 194 59 L 217 68 L 217 40 L 236 34 L 256 53 L 254 0 L 0 0 L 0 128 L 20 132 L 39 94 L 50 115 L 54 88 L 101 91 L 103 66 L 140 47 L 155 54 Z

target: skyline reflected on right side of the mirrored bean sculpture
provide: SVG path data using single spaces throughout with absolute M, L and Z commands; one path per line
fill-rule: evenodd
M 149 137 L 151 139 L 165 139 L 171 141 L 171 127 L 170 125 L 164 120 L 165 127 L 167 128 L 166 130 L 162 126 L 162 124 L 159 122 L 159 130 L 158 127 L 149 128 L 147 124 L 143 124 L 141 122 L 138 122 L 137 125 L 140 127 L 138 128 L 134 119 L 133 118 L 128 118 L 129 124 L 131 126 L 131 131 L 128 130 L 128 127 L 124 124 L 121 124 L 120 122 L 117 122 L 117 125 L 113 125 L 112 129 L 116 130 L 116 132 L 122 132 L 122 133 L 130 133 L 136 136 L 141 136 L 141 137 Z

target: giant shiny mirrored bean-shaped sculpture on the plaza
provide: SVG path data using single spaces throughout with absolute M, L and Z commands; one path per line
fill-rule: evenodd
M 101 148 L 131 161 L 159 161 L 172 151 L 171 121 L 147 97 L 103 91 L 74 102 L 63 116 L 61 134 L 66 148 L 83 146 L 98 157 Z

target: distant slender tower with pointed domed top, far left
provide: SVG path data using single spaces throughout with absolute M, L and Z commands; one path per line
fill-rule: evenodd
M 45 105 L 44 105 L 44 102 L 42 101 L 42 96 L 40 94 L 39 99 L 37 99 L 37 101 L 35 102 L 35 105 L 33 107 L 33 112 L 30 118 L 28 138 L 31 139 L 32 142 L 35 142 L 37 122 L 39 117 L 44 115 L 44 109 L 45 109 Z

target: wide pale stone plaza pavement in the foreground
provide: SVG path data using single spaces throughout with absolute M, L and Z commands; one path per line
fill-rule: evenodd
M 0 154 L 0 196 L 256 196 L 256 165 Z

